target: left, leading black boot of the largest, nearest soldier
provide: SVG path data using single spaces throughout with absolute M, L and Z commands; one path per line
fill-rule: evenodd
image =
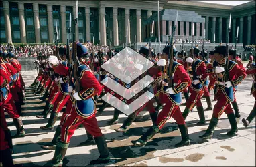
M 62 166 L 63 165 L 63 158 L 66 155 L 66 150 L 68 150 L 69 143 L 64 143 L 58 140 L 56 144 L 56 149 L 54 152 L 54 158 L 52 158 L 51 165 L 52 166 Z

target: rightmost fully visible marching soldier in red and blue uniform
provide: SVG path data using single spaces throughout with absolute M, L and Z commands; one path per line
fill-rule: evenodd
M 231 124 L 231 130 L 227 132 L 227 136 L 234 136 L 238 131 L 237 121 L 235 119 L 235 114 L 231 108 L 230 102 L 234 101 L 234 90 L 235 86 L 239 85 L 243 79 L 245 79 L 246 73 L 235 63 L 234 61 L 228 61 L 228 65 L 225 67 L 225 56 L 227 53 L 226 46 L 220 45 L 216 47 L 214 51 L 214 63 L 212 69 L 207 69 L 207 74 L 214 74 L 216 80 L 216 100 L 217 103 L 214 106 L 212 119 L 206 130 L 206 132 L 199 136 L 203 139 L 212 138 L 214 129 L 218 124 L 220 116 L 225 112 L 229 118 L 229 123 Z M 228 71 L 228 72 L 227 72 Z M 225 79 L 226 76 L 228 79 Z

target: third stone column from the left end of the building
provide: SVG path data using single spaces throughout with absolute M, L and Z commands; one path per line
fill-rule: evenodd
M 41 43 L 38 3 L 33 3 L 36 43 Z

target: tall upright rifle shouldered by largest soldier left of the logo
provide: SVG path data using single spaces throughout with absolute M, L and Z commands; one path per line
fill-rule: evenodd
M 76 17 L 74 19 L 74 29 L 76 29 L 78 23 L 78 1 L 76 1 Z M 80 65 L 78 59 L 77 59 L 77 53 L 76 53 L 76 33 L 75 31 L 73 32 L 73 54 L 72 54 L 72 60 L 73 60 L 73 70 L 72 70 L 72 75 L 74 79 L 76 80 L 76 87 L 75 90 L 76 92 L 80 91 L 81 83 L 80 80 L 78 79 L 77 75 L 77 68 Z

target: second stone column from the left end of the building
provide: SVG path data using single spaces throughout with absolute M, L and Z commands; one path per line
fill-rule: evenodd
M 21 30 L 21 42 L 22 43 L 27 43 L 27 36 L 25 34 L 25 18 L 24 18 L 24 3 L 23 2 L 18 2 L 19 5 L 19 27 Z

